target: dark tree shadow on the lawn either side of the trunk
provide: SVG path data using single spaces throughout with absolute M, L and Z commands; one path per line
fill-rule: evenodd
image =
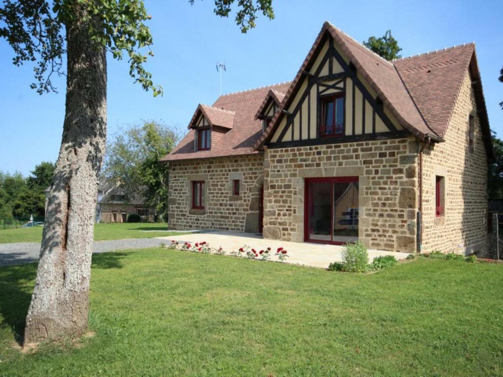
M 93 268 L 122 268 L 127 252 L 93 254 Z M 9 328 L 22 344 L 26 314 L 37 276 L 37 263 L 0 267 L 0 327 Z

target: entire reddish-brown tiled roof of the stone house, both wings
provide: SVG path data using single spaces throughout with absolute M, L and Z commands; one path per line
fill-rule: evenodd
M 487 155 L 489 160 L 492 158 L 489 122 L 473 43 L 389 62 L 325 22 L 291 83 L 221 96 L 213 107 L 234 111 L 234 128 L 217 145 L 212 145 L 209 151 L 194 152 L 194 132 L 191 132 L 172 154 L 162 160 L 247 154 L 260 150 L 279 127 L 285 116 L 281 110 L 290 106 L 306 72 L 314 63 L 324 41 L 330 37 L 398 123 L 422 140 L 429 137 L 433 141 L 443 141 L 464 75 L 469 69 Z M 279 111 L 262 134 L 257 119 L 271 98 L 279 103 Z

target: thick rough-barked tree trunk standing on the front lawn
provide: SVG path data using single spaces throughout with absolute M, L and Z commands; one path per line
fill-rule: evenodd
M 80 19 L 66 25 L 63 136 L 26 317 L 25 345 L 75 337 L 88 324 L 98 175 L 107 134 L 107 67 L 105 48 L 91 40 L 89 24 Z

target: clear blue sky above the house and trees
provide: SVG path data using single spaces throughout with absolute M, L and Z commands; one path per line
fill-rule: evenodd
M 236 0 L 237 3 L 237 0 Z M 146 0 L 155 57 L 147 68 L 164 88 L 153 98 L 133 84 L 125 61 L 109 58 L 109 135 L 118 127 L 160 119 L 185 130 L 198 103 L 212 104 L 219 94 L 215 64 L 224 61 L 223 92 L 238 91 L 293 79 L 324 21 L 359 41 L 381 36 L 387 29 L 403 48 L 403 56 L 474 41 L 489 122 L 503 136 L 503 2 L 494 1 L 300 1 L 274 0 L 276 18 L 257 20 L 257 28 L 241 34 L 233 17 L 213 14 L 212 0 L 169 2 Z M 39 96 L 29 88 L 32 66 L 16 67 L 13 52 L 0 40 L 0 170 L 28 174 L 42 160 L 55 161 L 64 116 L 60 92 Z

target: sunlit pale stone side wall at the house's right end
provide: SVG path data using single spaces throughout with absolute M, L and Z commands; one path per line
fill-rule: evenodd
M 473 153 L 468 148 L 471 112 L 475 115 Z M 423 252 L 482 250 L 487 234 L 487 157 L 468 72 L 444 139 L 424 152 Z M 445 181 L 443 217 L 435 215 L 436 175 Z

